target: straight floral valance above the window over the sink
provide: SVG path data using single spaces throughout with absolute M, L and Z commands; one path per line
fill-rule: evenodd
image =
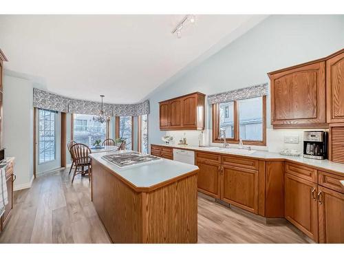
M 268 83 L 263 83 L 261 85 L 255 85 L 242 89 L 235 89 L 230 92 L 222 92 L 219 94 L 209 95 L 208 103 L 224 103 L 233 100 L 242 100 L 245 98 L 255 98 L 266 95 L 268 95 Z

